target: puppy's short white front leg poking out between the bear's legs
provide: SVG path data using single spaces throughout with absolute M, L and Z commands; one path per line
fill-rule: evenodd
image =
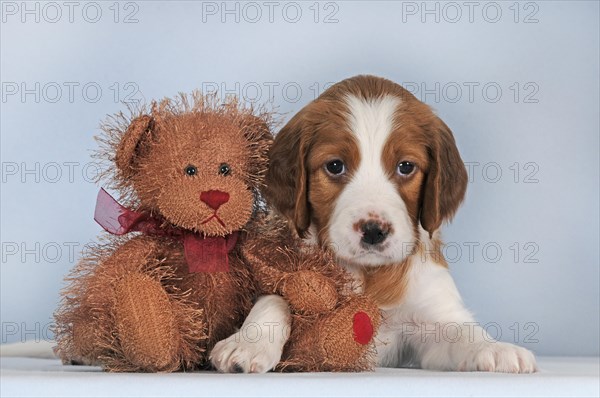
M 277 295 L 262 296 L 242 328 L 215 345 L 210 360 L 220 372 L 268 372 L 281 360 L 290 325 L 287 302 Z

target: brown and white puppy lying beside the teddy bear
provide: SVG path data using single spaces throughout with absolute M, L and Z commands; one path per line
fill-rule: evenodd
M 448 126 L 386 79 L 356 76 L 335 84 L 275 138 L 267 197 L 307 242 L 333 250 L 379 303 L 378 366 L 536 371 L 530 351 L 494 341 L 478 326 L 441 254 L 440 226 L 466 187 Z M 245 325 L 287 326 L 285 306 L 269 311 L 266 303 L 259 301 Z M 285 344 L 238 340 L 223 355 L 251 364 L 268 352 L 268 361 L 261 359 L 267 366 L 254 365 L 263 370 L 277 363 Z

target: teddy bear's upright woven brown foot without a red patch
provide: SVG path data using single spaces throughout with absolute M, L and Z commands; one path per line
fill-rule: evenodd
M 117 283 L 115 299 L 117 335 L 125 363 L 113 360 L 108 370 L 177 370 L 176 318 L 160 282 L 147 275 L 127 275 Z

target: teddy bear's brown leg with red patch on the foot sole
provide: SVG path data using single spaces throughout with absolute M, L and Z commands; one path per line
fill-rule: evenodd
M 360 371 L 373 366 L 373 338 L 380 312 L 366 297 L 354 297 L 316 319 L 297 316 L 292 323 L 282 370 Z

